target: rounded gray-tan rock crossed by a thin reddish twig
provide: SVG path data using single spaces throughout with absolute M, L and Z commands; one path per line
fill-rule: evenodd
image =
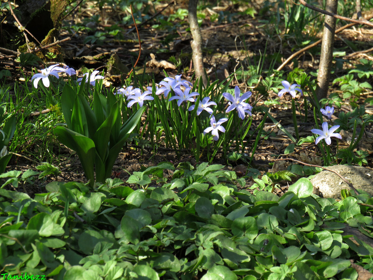
M 347 181 L 352 183 L 355 189 L 361 189 L 373 196 L 373 172 L 360 166 L 335 165 L 329 169 L 341 174 Z M 341 198 L 341 190 L 351 188 L 338 175 L 323 170 L 312 179 L 313 193 L 322 197 Z

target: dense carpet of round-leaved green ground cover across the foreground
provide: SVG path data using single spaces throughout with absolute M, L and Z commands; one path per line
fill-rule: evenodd
M 372 237 L 370 196 L 320 198 L 307 178 L 282 197 L 251 195 L 237 187 L 244 180 L 222 168 L 164 162 L 94 190 L 48 183 L 48 192 L 34 198 L 0 189 L 2 273 L 55 280 L 357 279 L 350 259 L 372 269 L 373 248 L 361 237 Z M 363 234 L 347 235 L 347 227 Z

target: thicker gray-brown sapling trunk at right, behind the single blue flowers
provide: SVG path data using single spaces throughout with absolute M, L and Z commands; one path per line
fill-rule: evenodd
M 327 0 L 325 10 L 330 13 L 337 12 L 338 0 Z M 323 38 L 321 43 L 321 56 L 319 74 L 317 75 L 316 96 L 317 99 L 326 98 L 329 88 L 330 70 L 333 60 L 333 44 L 336 18 L 325 15 Z

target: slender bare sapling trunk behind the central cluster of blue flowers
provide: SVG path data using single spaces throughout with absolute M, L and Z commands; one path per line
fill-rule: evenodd
M 197 21 L 197 2 L 198 0 L 190 0 L 188 6 L 189 27 L 193 38 L 191 41 L 193 52 L 192 59 L 194 63 L 195 77 L 202 78 L 203 84 L 206 86 L 207 77 L 203 68 L 202 35 Z

